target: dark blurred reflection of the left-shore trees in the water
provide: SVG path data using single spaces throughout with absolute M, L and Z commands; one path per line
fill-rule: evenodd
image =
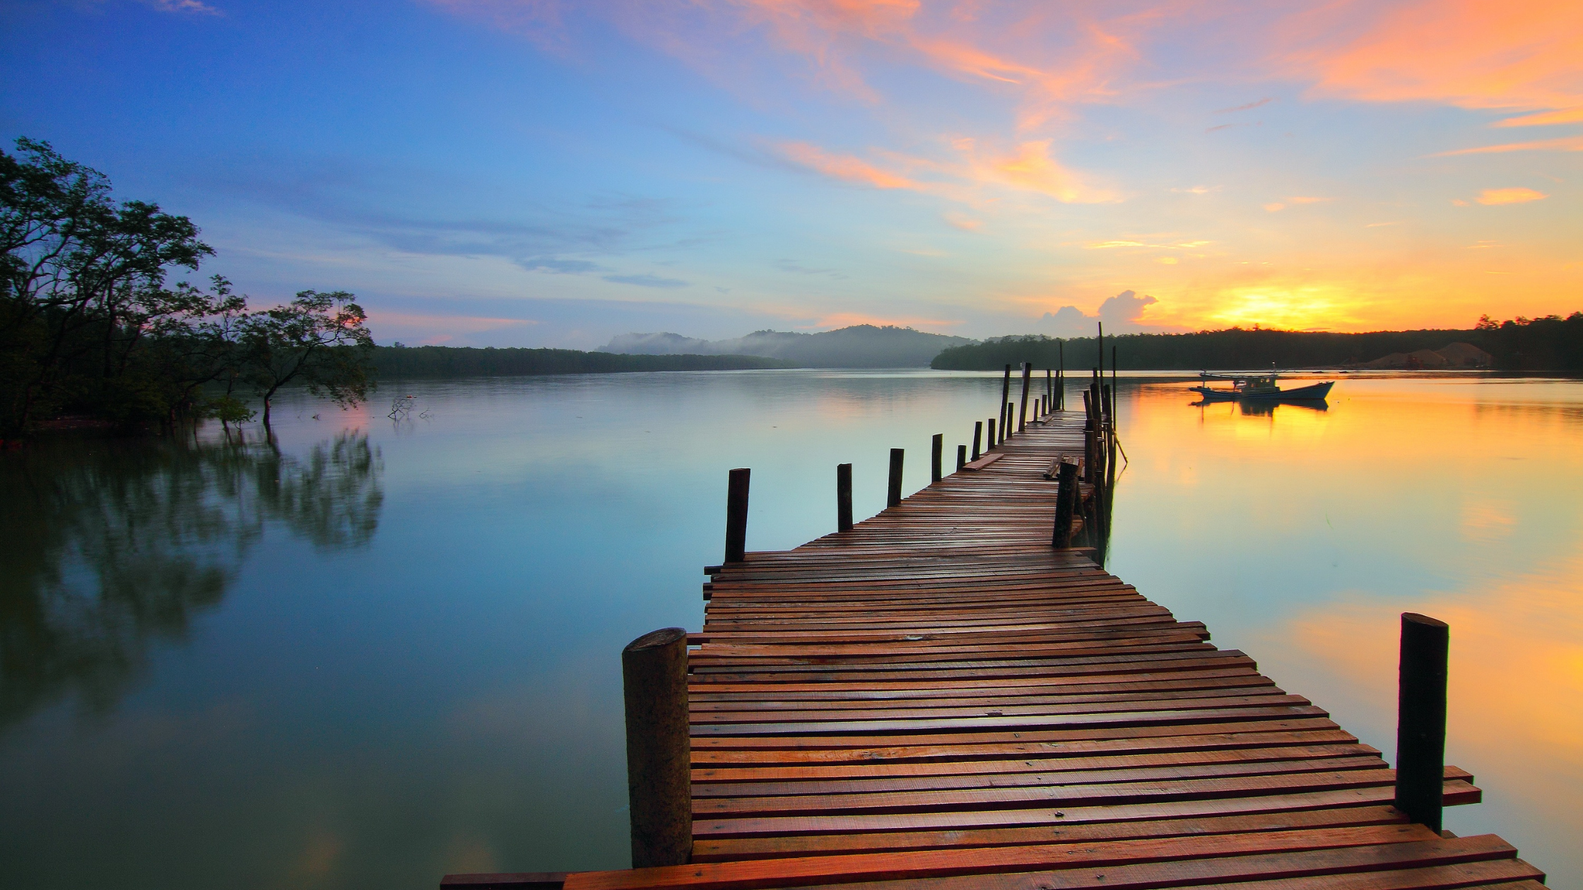
M 0 727 L 76 694 L 109 709 L 158 641 L 217 607 L 277 523 L 318 550 L 378 526 L 383 464 L 366 435 L 304 458 L 218 442 L 51 442 L 0 461 Z

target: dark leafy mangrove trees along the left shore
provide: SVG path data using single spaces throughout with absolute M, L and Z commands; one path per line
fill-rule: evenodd
M 250 310 L 220 276 L 169 285 L 214 255 L 190 219 L 116 203 L 103 173 L 49 143 L 16 149 L 0 149 L 0 439 L 63 415 L 245 421 L 249 397 L 268 426 L 287 385 L 367 397 L 374 340 L 353 295 L 304 290 Z

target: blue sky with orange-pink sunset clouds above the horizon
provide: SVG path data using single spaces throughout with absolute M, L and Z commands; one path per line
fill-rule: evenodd
M 1583 309 L 1577 0 L 16 0 L 0 29 L 6 143 L 193 217 L 260 302 L 356 291 L 383 344 Z

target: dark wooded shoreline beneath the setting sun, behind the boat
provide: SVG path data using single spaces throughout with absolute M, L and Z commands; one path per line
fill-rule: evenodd
M 1502 371 L 1583 371 L 1583 312 L 1562 318 L 1512 318 L 1488 315 L 1471 329 L 1279 331 L 1228 328 L 1189 334 L 1118 334 L 1105 337 L 1105 367 L 1113 355 L 1124 371 L 1247 371 L 1277 367 L 1330 367 L 1361 364 L 1390 353 L 1437 350 L 1452 342 L 1472 344 L 1493 356 Z M 1111 352 L 1114 350 L 1114 353 Z M 999 371 L 1023 361 L 1035 367 L 1084 371 L 1099 364 L 1097 337 L 1057 339 L 1043 334 L 994 337 L 940 352 L 929 363 L 939 371 Z

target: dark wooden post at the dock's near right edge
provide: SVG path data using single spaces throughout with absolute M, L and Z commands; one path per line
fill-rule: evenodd
M 1396 809 L 1441 830 L 1450 627 L 1404 611 L 1396 684 Z

